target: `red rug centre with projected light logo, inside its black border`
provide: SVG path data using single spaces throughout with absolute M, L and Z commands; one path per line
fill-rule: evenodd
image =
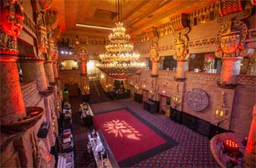
M 144 123 L 126 109 L 94 115 L 94 127 L 102 131 L 118 162 L 167 143 Z

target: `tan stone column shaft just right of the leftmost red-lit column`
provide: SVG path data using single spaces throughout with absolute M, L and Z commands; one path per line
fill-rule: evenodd
M 20 60 L 23 81 L 36 81 L 37 87 L 41 92 L 47 89 L 44 62 L 44 59 L 39 59 L 36 57 L 29 60 Z

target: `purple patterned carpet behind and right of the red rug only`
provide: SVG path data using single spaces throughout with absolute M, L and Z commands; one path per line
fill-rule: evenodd
M 207 137 L 193 132 L 184 125 L 176 124 L 167 116 L 152 115 L 144 111 L 141 104 L 129 99 L 91 105 L 94 113 L 124 107 L 131 108 L 132 111 L 179 143 L 179 145 L 141 161 L 133 167 L 219 167 L 211 155 L 210 141 Z

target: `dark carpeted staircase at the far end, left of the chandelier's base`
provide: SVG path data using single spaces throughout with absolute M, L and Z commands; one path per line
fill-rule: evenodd
M 90 103 L 102 103 L 106 101 L 110 101 L 108 97 L 105 95 L 105 91 L 102 88 L 99 80 L 97 81 L 89 81 L 90 84 Z

